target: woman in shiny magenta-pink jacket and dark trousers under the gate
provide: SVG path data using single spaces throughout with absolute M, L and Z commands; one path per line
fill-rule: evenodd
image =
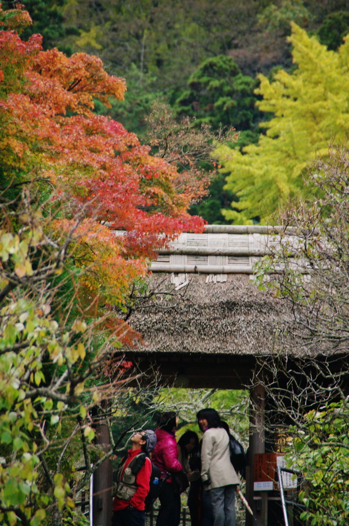
M 161 470 L 161 478 L 165 479 L 159 494 L 160 510 L 156 526 L 178 526 L 180 522 L 180 493 L 176 491 L 171 476 L 183 470 L 178 460 L 177 426 L 178 417 L 173 411 L 160 415 L 156 430 L 157 443 L 151 456 L 151 461 Z

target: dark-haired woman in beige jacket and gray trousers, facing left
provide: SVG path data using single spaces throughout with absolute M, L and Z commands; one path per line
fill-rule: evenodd
M 210 491 L 213 526 L 235 526 L 235 488 L 239 477 L 230 462 L 229 436 L 221 427 L 215 409 L 198 412 L 199 426 L 204 432 L 201 449 L 201 479 Z

